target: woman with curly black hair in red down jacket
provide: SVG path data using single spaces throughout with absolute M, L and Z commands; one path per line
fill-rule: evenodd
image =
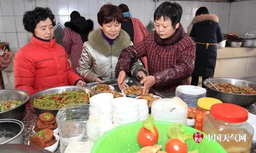
M 53 38 L 56 23 L 52 11 L 36 7 L 25 12 L 23 24 L 32 38 L 15 55 L 15 88 L 32 95 L 56 86 L 83 86 L 85 82 L 71 70 L 64 48 Z

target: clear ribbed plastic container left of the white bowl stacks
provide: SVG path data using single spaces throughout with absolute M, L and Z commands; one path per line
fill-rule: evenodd
M 98 132 L 97 127 L 99 128 L 100 109 L 97 106 L 90 104 L 71 104 L 64 106 L 59 110 L 56 115 L 56 121 L 59 129 L 58 133 L 60 136 L 61 153 L 64 153 L 68 144 L 74 141 L 86 142 L 92 138 L 93 141 L 98 139 L 98 137 L 96 137 L 99 135 L 98 133 L 88 135 L 90 132 L 88 132 L 89 129 L 87 129 L 87 127 L 88 123 L 90 123 L 88 122 L 90 115 L 94 116 L 93 124 L 90 125 L 95 127 L 94 130 Z M 78 151 L 78 148 L 80 152 L 84 152 L 86 150 L 86 148 L 80 146 L 74 147 L 74 152 Z

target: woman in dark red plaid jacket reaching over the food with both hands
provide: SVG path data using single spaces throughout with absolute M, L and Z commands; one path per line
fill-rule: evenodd
M 140 43 L 124 49 L 116 65 L 116 76 L 120 89 L 128 86 L 124 82 L 130 65 L 138 58 L 147 57 L 149 76 L 143 94 L 153 87 L 159 92 L 175 91 L 179 85 L 190 84 L 188 78 L 194 69 L 195 43 L 185 33 L 180 18 L 180 4 L 163 2 L 154 12 L 155 29 Z

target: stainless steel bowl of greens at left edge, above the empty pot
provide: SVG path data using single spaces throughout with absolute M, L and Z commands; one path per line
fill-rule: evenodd
M 30 94 L 24 90 L 5 89 L 0 90 L 0 101 L 2 100 L 22 100 L 22 104 L 10 110 L 0 112 L 0 119 L 12 118 L 21 120 L 25 115 L 26 102 L 28 102 Z

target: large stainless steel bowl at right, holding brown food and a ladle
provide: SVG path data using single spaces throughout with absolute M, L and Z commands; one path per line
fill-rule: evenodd
M 212 83 L 231 83 L 240 87 L 249 86 L 256 90 L 256 84 L 253 82 L 240 80 L 236 78 L 209 78 Z M 203 81 L 206 86 L 207 96 L 221 100 L 222 102 L 232 103 L 240 106 L 250 106 L 256 102 L 256 94 L 232 94 L 227 92 L 217 91 L 215 89 L 207 87 L 209 82 Z

